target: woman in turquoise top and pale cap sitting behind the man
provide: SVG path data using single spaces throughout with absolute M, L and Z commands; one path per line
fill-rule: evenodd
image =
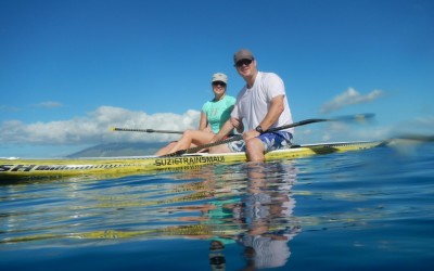
M 235 103 L 235 98 L 226 94 L 227 83 L 228 77 L 225 74 L 214 74 L 212 78 L 214 99 L 206 102 L 202 107 L 199 130 L 184 131 L 179 141 L 169 143 L 155 155 L 166 155 L 175 153 L 178 150 L 209 143 L 229 119 L 233 104 Z M 233 129 L 228 131 L 228 134 L 232 132 Z

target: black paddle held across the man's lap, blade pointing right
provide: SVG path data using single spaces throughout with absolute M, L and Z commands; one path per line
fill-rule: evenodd
M 357 114 L 357 115 L 348 115 L 348 116 L 341 116 L 341 117 L 335 117 L 335 118 L 309 118 L 309 119 L 305 119 L 298 122 L 293 122 L 291 125 L 284 125 L 284 126 L 280 126 L 280 127 L 276 127 L 276 128 L 270 128 L 265 132 L 276 132 L 279 130 L 284 130 L 284 129 L 289 129 L 289 128 L 293 128 L 293 127 L 297 127 L 297 126 L 304 126 L 304 125 L 309 125 L 309 124 L 315 124 L 315 122 L 324 122 L 324 121 L 342 121 L 342 122 L 356 122 L 356 121 L 366 121 L 369 120 L 370 118 L 373 118 L 375 116 L 375 114 L 372 113 L 368 113 L 368 114 Z M 221 140 L 221 141 L 217 141 L 217 142 L 213 142 L 209 144 L 204 144 L 204 145 L 200 145 L 200 146 L 195 146 L 195 147 L 190 147 L 190 149 L 186 149 L 186 150 L 179 150 L 175 153 L 170 153 L 170 154 L 166 154 L 163 155 L 163 157 L 165 156 L 177 156 L 177 155 L 182 155 L 182 154 L 187 154 L 187 153 L 196 153 L 203 149 L 208 149 L 212 146 L 216 146 L 216 145 L 220 145 L 220 144 L 225 144 L 225 143 L 229 143 L 232 141 L 239 141 L 242 140 L 243 136 L 242 134 L 237 134 L 233 137 L 230 137 L 226 140 Z

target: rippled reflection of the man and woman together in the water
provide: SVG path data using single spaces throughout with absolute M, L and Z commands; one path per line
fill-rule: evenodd
M 292 216 L 296 169 L 292 164 L 245 164 L 239 172 L 244 177 L 228 180 L 225 188 L 243 193 L 215 197 L 201 210 L 200 220 L 214 225 L 214 236 L 207 236 L 212 269 L 226 270 L 224 248 L 231 243 L 243 247 L 244 270 L 283 267 L 291 255 L 289 242 L 301 232 L 299 220 Z M 244 186 L 231 186 L 240 180 Z

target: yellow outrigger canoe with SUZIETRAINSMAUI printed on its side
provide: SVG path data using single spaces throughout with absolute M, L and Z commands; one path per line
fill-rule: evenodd
M 336 142 L 294 145 L 290 149 L 266 154 L 266 160 L 293 159 L 318 154 L 360 151 L 383 145 L 375 142 Z M 33 179 L 62 177 L 131 176 L 161 170 L 189 170 L 205 165 L 246 162 L 244 153 L 195 153 L 181 156 L 131 156 L 56 159 L 7 159 L 0 158 L 0 179 Z

